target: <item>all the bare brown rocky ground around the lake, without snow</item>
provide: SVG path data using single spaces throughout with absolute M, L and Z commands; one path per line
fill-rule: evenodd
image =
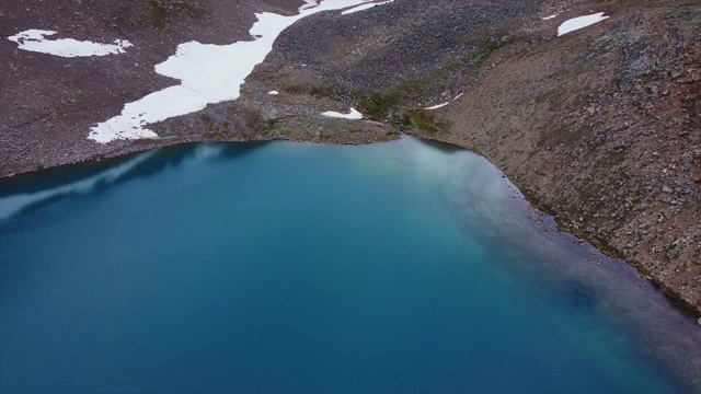
M 156 125 L 173 139 L 102 146 L 87 140 L 90 126 L 173 84 L 153 65 L 177 44 L 243 39 L 253 11 L 294 14 L 302 1 L 9 1 L 3 36 L 53 28 L 135 49 L 67 61 L 0 40 L 2 175 L 183 141 L 412 134 L 485 155 L 561 225 L 699 317 L 701 4 L 395 0 L 323 12 L 278 37 L 238 101 Z M 562 22 L 594 12 L 609 18 L 558 36 Z M 372 121 L 320 116 L 350 106 Z

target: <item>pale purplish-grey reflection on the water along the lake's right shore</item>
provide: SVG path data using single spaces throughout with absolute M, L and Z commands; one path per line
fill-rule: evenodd
M 576 324 L 584 331 L 599 332 L 597 320 L 611 322 L 597 335 L 600 347 L 631 349 L 670 376 L 678 392 L 700 392 L 700 327 L 635 268 L 556 231 L 555 220 L 535 210 L 483 157 L 443 143 L 423 143 L 423 149 L 407 141 L 398 144 L 404 149 L 394 161 L 441 179 L 439 205 L 483 245 L 491 264 L 508 273 L 506 283 L 528 283 L 532 297 L 552 310 L 579 315 Z

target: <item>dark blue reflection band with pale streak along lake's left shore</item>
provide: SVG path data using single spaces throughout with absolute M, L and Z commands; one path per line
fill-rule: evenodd
M 184 163 L 231 161 L 243 158 L 267 142 L 194 143 L 157 149 L 103 162 L 53 169 L 21 175 L 0 183 L 0 222 L 41 209 L 79 194 L 99 194 L 124 183 L 146 178 Z

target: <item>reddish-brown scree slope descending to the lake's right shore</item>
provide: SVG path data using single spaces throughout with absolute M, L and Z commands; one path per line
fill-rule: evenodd
M 701 5 L 606 23 L 501 63 L 438 118 L 567 229 L 701 308 Z

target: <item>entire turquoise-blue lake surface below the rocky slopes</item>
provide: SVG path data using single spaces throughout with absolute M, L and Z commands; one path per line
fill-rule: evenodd
M 554 225 L 411 138 L 5 181 L 0 392 L 699 392 L 696 322 Z

